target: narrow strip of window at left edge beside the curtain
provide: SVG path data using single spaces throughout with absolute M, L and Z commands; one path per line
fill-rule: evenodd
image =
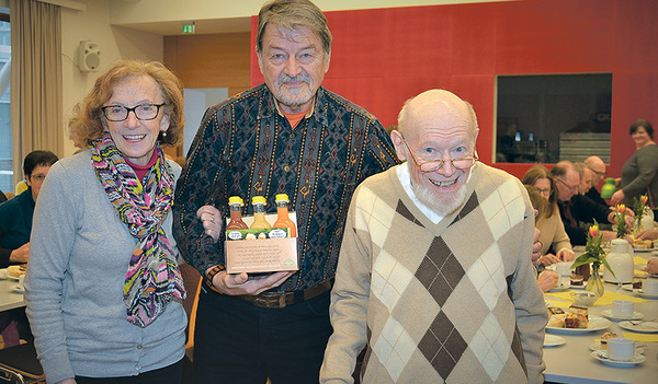
M 13 150 L 11 138 L 10 71 L 11 30 L 9 9 L 0 8 L 0 189 L 13 191 Z

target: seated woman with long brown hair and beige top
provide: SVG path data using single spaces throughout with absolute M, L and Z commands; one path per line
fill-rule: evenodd
M 535 165 L 527 170 L 521 183 L 532 186 L 546 201 L 548 207 L 543 214 L 535 219 L 535 226 L 542 232 L 542 257 L 536 260 L 535 266 L 549 266 L 559 261 L 574 259 L 574 251 L 569 236 L 565 232 L 557 208 L 557 187 L 555 179 L 543 165 Z M 554 253 L 549 253 L 553 249 Z

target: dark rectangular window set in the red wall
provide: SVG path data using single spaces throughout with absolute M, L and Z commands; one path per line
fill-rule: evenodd
M 612 73 L 499 75 L 496 162 L 610 163 Z

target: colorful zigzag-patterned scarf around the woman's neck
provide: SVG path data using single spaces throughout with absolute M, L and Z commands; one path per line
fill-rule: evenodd
M 127 321 L 146 327 L 173 298 L 184 299 L 185 288 L 162 221 L 173 199 L 173 172 L 156 146 L 158 160 L 145 187 L 105 132 L 91 148 L 91 160 L 116 214 L 138 240 L 126 272 L 124 302 Z

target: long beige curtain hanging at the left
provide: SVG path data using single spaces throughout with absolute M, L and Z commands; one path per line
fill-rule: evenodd
M 61 10 L 36 0 L 10 0 L 11 127 L 14 184 L 34 150 L 64 154 Z

